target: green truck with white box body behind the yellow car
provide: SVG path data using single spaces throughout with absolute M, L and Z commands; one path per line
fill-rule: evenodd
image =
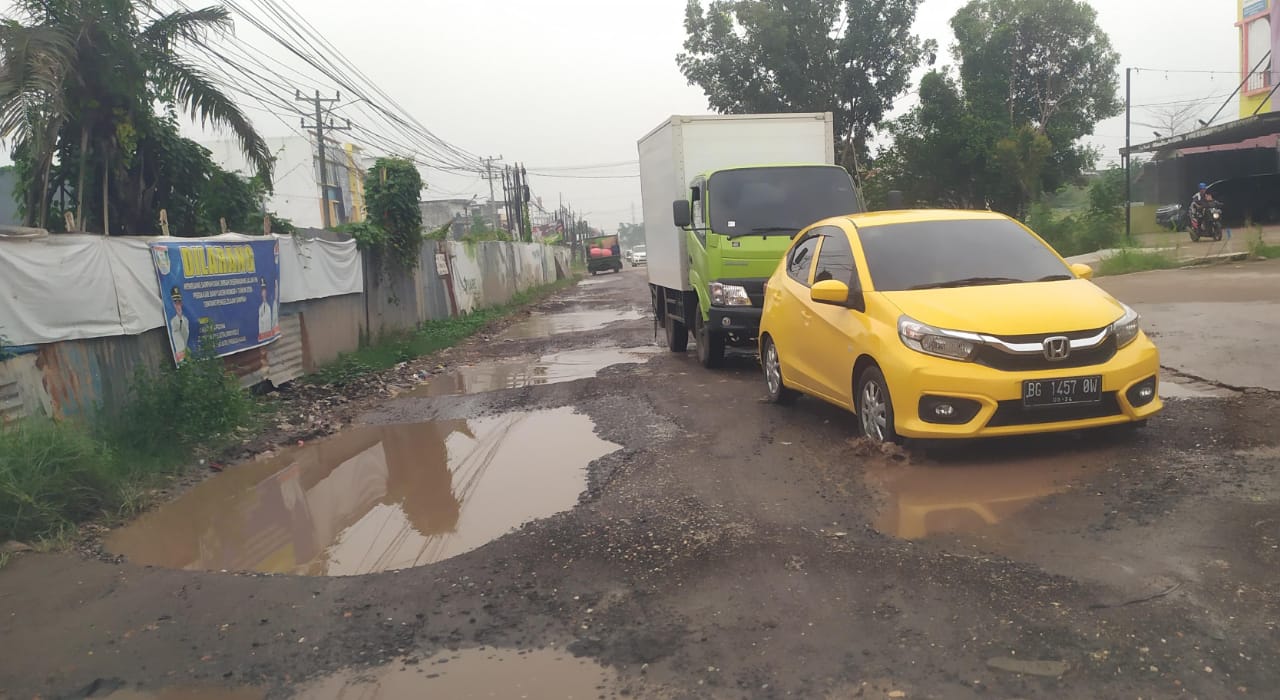
M 754 351 L 764 283 L 809 224 L 863 210 L 832 116 L 672 116 L 639 142 L 649 292 L 667 347 Z

